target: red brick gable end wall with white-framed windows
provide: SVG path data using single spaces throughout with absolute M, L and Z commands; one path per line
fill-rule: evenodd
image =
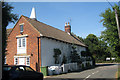
M 24 23 L 23 33 L 20 33 L 20 24 Z M 30 66 L 36 70 L 36 63 L 38 64 L 38 38 L 40 33 L 23 17 L 21 16 L 10 35 L 7 42 L 7 55 L 6 63 L 8 65 L 14 65 L 14 56 L 17 55 L 17 38 L 18 35 L 27 34 L 26 37 L 26 55 L 30 55 Z M 39 38 L 40 42 L 40 38 Z M 40 46 L 40 43 L 39 43 Z M 40 47 L 39 47 L 40 54 Z M 40 57 L 40 56 L 39 56 Z M 40 60 L 40 59 L 39 59 Z M 40 61 L 41 62 L 41 61 Z M 41 63 L 39 64 L 41 65 Z

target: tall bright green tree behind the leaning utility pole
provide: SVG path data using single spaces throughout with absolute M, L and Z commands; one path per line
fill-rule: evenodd
M 113 8 L 117 9 L 120 21 L 120 10 L 118 5 L 115 4 Z M 105 27 L 105 30 L 101 33 L 101 39 L 108 43 L 107 45 L 109 45 L 111 56 L 120 56 L 120 40 L 118 36 L 115 12 L 108 8 L 107 10 L 105 10 L 105 12 L 101 13 L 100 16 L 103 18 L 101 22 Z

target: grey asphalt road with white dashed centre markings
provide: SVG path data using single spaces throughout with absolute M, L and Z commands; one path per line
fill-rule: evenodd
M 117 80 L 118 64 L 97 64 L 97 67 L 80 72 L 54 75 L 44 80 Z

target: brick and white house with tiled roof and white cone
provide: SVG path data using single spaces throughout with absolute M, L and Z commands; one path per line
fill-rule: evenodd
M 30 18 L 21 16 L 10 31 L 7 40 L 6 64 L 27 65 L 34 70 L 40 71 L 41 66 L 55 65 L 54 49 L 60 49 L 61 55 L 70 61 L 71 47 L 77 46 L 80 54 L 86 51 L 86 45 L 76 36 L 71 34 L 70 24 L 65 24 L 65 32 L 52 26 L 39 22 L 32 10 Z

